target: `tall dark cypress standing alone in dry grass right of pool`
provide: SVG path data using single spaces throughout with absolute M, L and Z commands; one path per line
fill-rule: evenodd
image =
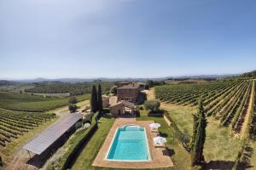
M 202 100 L 199 103 L 198 113 L 194 116 L 194 128 L 191 144 L 192 166 L 204 161 L 203 149 L 206 141 L 207 119 Z

